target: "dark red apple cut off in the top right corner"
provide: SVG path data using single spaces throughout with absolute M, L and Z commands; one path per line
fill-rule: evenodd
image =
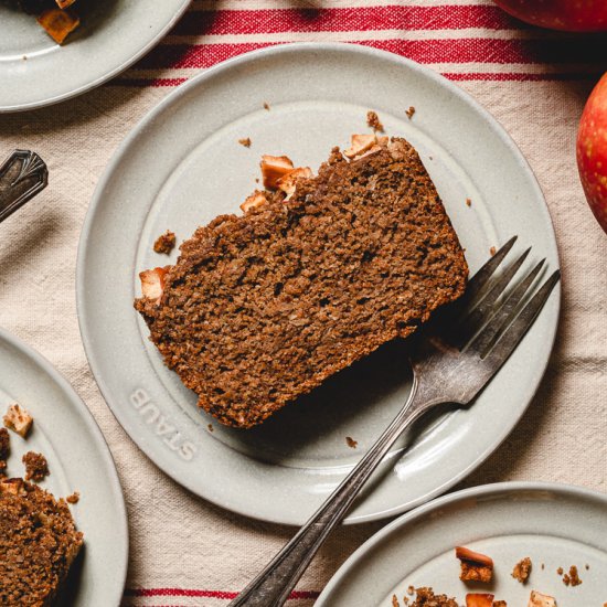
M 606 0 L 496 0 L 512 17 L 565 32 L 607 31 Z

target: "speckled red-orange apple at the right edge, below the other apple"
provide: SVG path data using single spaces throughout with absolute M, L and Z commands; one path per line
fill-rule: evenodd
M 607 74 L 590 93 L 579 120 L 577 168 L 586 200 L 607 233 Z

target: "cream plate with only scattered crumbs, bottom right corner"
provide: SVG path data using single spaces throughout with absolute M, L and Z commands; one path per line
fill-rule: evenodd
M 405 514 L 363 544 L 333 576 L 316 607 L 392 607 L 409 585 L 464 604 L 467 593 L 489 592 L 508 605 L 528 604 L 530 592 L 565 607 L 607 603 L 607 497 L 564 484 L 504 482 L 475 487 Z M 491 584 L 459 581 L 454 547 L 468 546 L 494 562 Z M 532 561 L 525 585 L 510 575 Z M 543 565 L 543 568 L 542 568 Z M 565 586 L 562 567 L 577 566 L 582 584 Z

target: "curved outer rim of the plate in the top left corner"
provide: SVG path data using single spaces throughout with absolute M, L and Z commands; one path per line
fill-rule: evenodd
M 160 42 L 160 40 L 162 40 L 167 35 L 167 33 L 175 25 L 175 23 L 183 17 L 185 11 L 190 8 L 191 3 L 192 3 L 192 0 L 181 0 L 181 7 L 177 9 L 175 14 L 172 17 L 170 21 L 168 21 L 159 30 L 159 32 L 155 36 L 152 36 L 151 40 L 149 40 L 143 46 L 141 46 L 141 49 L 139 49 L 139 51 L 137 51 L 132 56 L 120 62 L 117 66 L 111 68 L 109 72 L 107 72 L 103 76 L 99 76 L 98 78 L 95 78 L 72 90 L 61 93 L 53 97 L 45 97 L 38 102 L 26 102 L 26 103 L 13 104 L 13 105 L 0 105 L 0 115 L 29 111 L 32 109 L 40 109 L 42 107 L 47 107 L 54 104 L 66 102 L 67 99 L 73 99 L 74 97 L 78 97 L 79 95 L 88 93 L 89 90 L 96 88 L 97 86 L 100 86 L 102 84 L 115 78 L 118 74 L 120 74 L 125 70 L 128 70 L 134 63 L 137 63 L 140 58 L 147 55 Z M 66 47 L 68 47 L 68 45 Z

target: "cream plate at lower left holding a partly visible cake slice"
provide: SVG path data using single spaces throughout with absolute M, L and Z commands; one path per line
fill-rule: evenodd
M 71 505 L 84 547 L 70 572 L 65 607 L 117 607 L 128 564 L 125 502 L 104 437 L 72 386 L 21 341 L 0 330 L 0 414 L 18 402 L 34 418 L 28 438 L 10 434 L 7 473 L 22 477 L 21 457 L 43 454 L 51 475 L 40 483 Z

